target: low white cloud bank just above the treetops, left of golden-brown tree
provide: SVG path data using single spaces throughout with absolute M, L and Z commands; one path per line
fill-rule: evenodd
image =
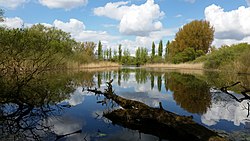
M 21 28 L 23 25 L 23 20 L 15 18 L 6 18 L 5 22 L 0 23 L 0 26 L 7 26 L 10 28 Z M 55 20 L 53 23 L 41 23 L 47 27 L 56 27 L 65 32 L 71 34 L 72 38 L 76 41 L 102 41 L 103 48 L 112 48 L 112 50 L 118 48 L 119 44 L 122 44 L 123 48 L 129 49 L 132 55 L 135 54 L 137 47 L 146 47 L 150 53 L 152 42 L 154 41 L 157 45 L 159 40 L 166 38 L 173 38 L 177 28 L 173 29 L 162 29 L 160 31 L 152 31 L 148 36 L 136 36 L 135 39 L 122 39 L 122 36 L 113 36 L 106 31 L 94 31 L 87 30 L 85 24 L 77 19 L 70 19 L 67 22 Z M 25 23 L 25 27 L 31 27 L 34 24 Z M 163 42 L 166 40 L 163 40 Z M 157 45 L 158 46 L 158 45 Z

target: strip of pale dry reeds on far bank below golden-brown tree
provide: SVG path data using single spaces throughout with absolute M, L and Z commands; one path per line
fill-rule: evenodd
M 192 69 L 192 70 L 202 70 L 203 63 L 182 63 L 182 64 L 146 64 L 145 68 L 168 68 L 168 69 Z

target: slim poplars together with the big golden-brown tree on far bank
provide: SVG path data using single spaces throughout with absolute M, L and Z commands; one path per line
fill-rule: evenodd
M 135 56 L 129 56 L 129 50 L 122 50 L 119 45 L 118 56 L 116 50 L 113 51 L 112 56 L 112 51 L 109 49 L 104 51 L 106 58 L 103 58 L 99 42 L 98 58 L 137 66 L 146 63 L 183 63 L 193 61 L 211 51 L 213 39 L 214 28 L 210 23 L 204 20 L 194 20 L 180 28 L 173 41 L 167 41 L 166 45 L 163 45 L 163 41 L 160 40 L 158 54 L 156 54 L 155 42 L 152 42 L 151 54 L 148 54 L 147 48 L 138 47 Z M 165 54 L 163 54 L 164 52 Z

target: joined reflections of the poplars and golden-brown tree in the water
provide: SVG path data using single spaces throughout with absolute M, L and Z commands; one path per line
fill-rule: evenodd
M 121 77 L 129 78 L 132 72 L 135 73 L 135 80 L 138 84 L 145 84 L 149 81 L 151 90 L 156 85 L 157 90 L 162 92 L 162 82 L 164 82 L 165 90 L 172 91 L 176 103 L 190 113 L 204 114 L 211 105 L 209 84 L 194 75 L 178 72 L 149 72 L 146 69 L 121 69 L 117 73 L 118 85 L 121 85 Z M 123 79 L 123 81 L 126 82 L 128 79 Z

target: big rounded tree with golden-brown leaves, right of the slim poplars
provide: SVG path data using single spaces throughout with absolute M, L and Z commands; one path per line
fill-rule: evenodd
M 169 45 L 169 60 L 187 62 L 206 54 L 214 39 L 214 28 L 208 21 L 194 20 L 176 33 Z

